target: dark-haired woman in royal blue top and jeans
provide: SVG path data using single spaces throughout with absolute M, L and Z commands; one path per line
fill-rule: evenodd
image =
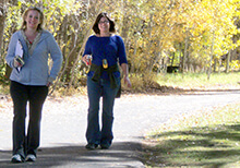
M 123 80 L 131 87 L 128 72 L 125 48 L 120 36 L 115 35 L 115 23 L 107 13 L 98 14 L 93 31 L 95 35 L 87 39 L 82 60 L 88 64 L 87 73 L 88 113 L 86 140 L 87 149 L 95 149 L 98 145 L 103 149 L 110 147 L 113 139 L 113 104 L 120 89 L 120 64 Z M 99 100 L 103 97 L 101 128 L 99 127 Z

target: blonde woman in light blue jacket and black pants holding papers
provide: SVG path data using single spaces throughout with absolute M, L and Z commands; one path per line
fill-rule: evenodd
M 5 57 L 13 69 L 10 75 L 14 115 L 12 163 L 36 160 L 40 143 L 41 109 L 48 87 L 56 80 L 62 63 L 61 50 L 55 37 L 43 29 L 43 23 L 41 10 L 36 7 L 28 8 L 23 14 L 21 29 L 11 37 Z M 17 57 L 21 53 L 22 56 Z M 50 70 L 49 56 L 53 62 Z M 25 133 L 27 101 L 29 121 Z

